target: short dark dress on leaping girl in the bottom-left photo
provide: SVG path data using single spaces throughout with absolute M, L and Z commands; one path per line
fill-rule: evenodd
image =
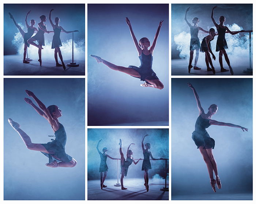
M 59 122 L 58 122 L 59 123 Z M 52 139 L 51 142 L 46 144 L 41 144 L 45 147 L 48 153 L 42 152 L 46 157 L 49 157 L 49 163 L 52 162 L 52 157 L 59 161 L 70 162 L 72 157 L 65 153 L 65 145 L 67 142 L 67 134 L 65 132 L 64 126 L 59 123 L 59 129 L 54 133 L 55 140 Z

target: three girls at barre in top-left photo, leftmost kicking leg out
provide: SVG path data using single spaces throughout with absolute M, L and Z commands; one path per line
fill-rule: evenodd
M 65 70 L 65 63 L 63 62 L 63 57 L 61 54 L 61 50 L 60 47 L 62 46 L 61 44 L 61 40 L 60 40 L 60 32 L 63 31 L 65 33 L 71 33 L 71 32 L 78 32 L 78 30 L 75 31 L 65 31 L 63 27 L 59 26 L 59 22 L 60 19 L 59 17 L 56 17 L 54 22 L 55 24 L 53 24 L 52 19 L 51 19 L 51 13 L 54 9 L 50 10 L 50 14 L 49 14 L 49 20 L 50 20 L 50 24 L 52 25 L 53 31 L 48 31 L 45 25 L 45 21 L 46 21 L 46 16 L 42 15 L 40 16 L 40 23 L 38 23 L 38 30 L 37 28 L 34 27 L 35 25 L 35 20 L 31 19 L 30 20 L 30 26 L 27 23 L 27 16 L 29 15 L 29 13 L 31 11 L 29 11 L 26 15 L 25 18 L 25 23 L 26 23 L 26 27 L 27 27 L 27 32 L 23 31 L 22 28 L 16 23 L 16 21 L 14 20 L 14 17 L 12 16 L 11 13 L 9 13 L 11 19 L 14 21 L 15 26 L 19 29 L 20 34 L 22 35 L 23 39 L 24 39 L 24 53 L 23 53 L 23 63 L 29 63 L 28 61 L 26 61 L 26 54 L 27 54 L 27 47 L 29 47 L 29 45 L 33 45 L 35 47 L 38 48 L 38 62 L 40 63 L 40 66 L 42 65 L 42 58 L 41 58 L 41 52 L 42 49 L 44 49 L 42 46 L 45 46 L 45 39 L 44 39 L 44 33 L 50 33 L 50 32 L 54 32 L 53 35 L 53 39 L 52 39 L 52 49 L 54 49 L 54 59 L 56 61 L 56 67 L 63 67 L 63 69 Z M 34 32 L 37 32 L 34 36 L 32 36 L 34 34 Z M 38 44 L 34 43 L 35 41 L 38 42 Z M 59 58 L 61 60 L 61 64 L 58 62 L 58 54 L 59 54 Z

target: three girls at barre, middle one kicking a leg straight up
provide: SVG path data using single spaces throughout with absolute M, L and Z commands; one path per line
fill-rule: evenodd
M 159 158 L 159 159 L 155 159 L 151 152 L 148 151 L 150 148 L 151 148 L 151 144 L 150 143 L 146 143 L 145 144 L 145 148 L 144 148 L 144 139 L 145 137 L 148 136 L 145 135 L 142 139 L 142 150 L 143 150 L 143 156 L 144 156 L 144 159 L 143 159 L 143 163 L 142 163 L 142 170 L 144 171 L 144 186 L 146 188 L 146 190 L 148 191 L 148 170 L 151 169 L 151 164 L 150 164 L 150 157 L 152 160 L 163 160 L 163 158 Z M 105 181 L 105 178 L 107 176 L 107 171 L 108 171 L 108 165 L 106 163 L 106 160 L 107 158 L 110 158 L 112 160 L 118 160 L 119 158 L 112 158 L 110 157 L 108 154 L 106 154 L 106 152 L 108 151 L 108 149 L 106 147 L 104 147 L 102 149 L 102 153 L 99 151 L 99 142 L 101 142 L 101 140 L 98 141 L 98 144 L 97 144 L 97 151 L 99 153 L 99 156 L 101 157 L 101 163 L 99 165 L 99 172 L 101 173 L 101 189 L 103 187 L 107 187 L 106 185 L 104 185 L 104 181 Z M 121 156 L 121 178 L 120 178 L 120 181 L 121 181 L 121 189 L 122 190 L 125 190 L 127 188 L 124 187 L 124 176 L 127 176 L 127 172 L 128 172 L 128 167 L 132 164 L 132 162 L 136 165 L 138 164 L 138 162 L 140 160 L 142 160 L 142 158 L 138 159 L 137 162 L 135 162 L 134 158 L 132 157 L 132 150 L 129 149 L 131 145 L 134 145 L 134 143 L 131 143 L 128 148 L 127 148 L 127 153 L 126 153 L 126 160 L 124 158 L 124 154 L 123 154 L 123 151 L 122 151 L 122 140 L 120 139 L 119 140 L 119 152 L 120 152 L 120 156 Z

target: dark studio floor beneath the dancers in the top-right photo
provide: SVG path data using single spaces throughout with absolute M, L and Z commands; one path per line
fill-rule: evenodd
M 216 62 L 215 62 L 216 64 Z M 215 66 L 214 64 L 214 66 Z M 193 63 L 192 63 L 193 65 Z M 228 66 L 225 66 L 225 63 L 223 62 L 224 68 L 228 69 Z M 219 64 L 218 66 L 215 66 L 216 73 L 213 74 L 212 71 L 207 71 L 206 64 L 204 62 L 197 63 L 197 66 L 201 68 L 201 70 L 194 70 L 191 69 L 190 73 L 188 73 L 188 61 L 184 59 L 172 59 L 172 75 L 189 75 L 189 76 L 195 76 L 195 75 L 218 75 L 218 76 L 230 76 L 230 72 L 221 72 Z M 252 75 L 252 73 L 245 73 L 244 70 L 249 68 L 249 63 L 246 64 L 238 64 L 233 63 L 231 64 L 231 67 L 233 68 L 234 75 Z

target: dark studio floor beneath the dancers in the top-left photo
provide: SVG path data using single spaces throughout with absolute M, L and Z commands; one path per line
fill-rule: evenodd
M 22 63 L 20 55 L 4 55 L 4 75 L 84 75 L 85 62 L 74 60 L 78 67 L 68 67 L 70 60 L 64 60 L 66 70 L 63 67 L 55 67 L 54 58 L 42 58 L 42 66 L 39 66 L 38 59 L 33 59 L 29 64 Z M 60 63 L 60 62 L 59 62 Z

